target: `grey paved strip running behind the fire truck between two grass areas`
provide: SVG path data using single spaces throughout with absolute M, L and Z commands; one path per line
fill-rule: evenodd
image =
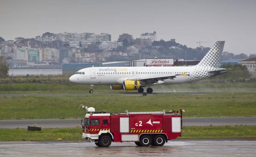
M 42 128 L 75 128 L 81 119 L 34 119 L 34 120 L 0 120 L 0 128 L 27 128 L 37 124 Z M 185 117 L 183 126 L 225 126 L 251 125 L 256 126 L 256 117 Z

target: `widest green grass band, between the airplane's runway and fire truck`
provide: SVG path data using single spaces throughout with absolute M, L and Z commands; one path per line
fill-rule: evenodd
M 169 111 L 183 108 L 184 117 L 255 117 L 255 93 L 163 93 L 147 97 L 133 94 L 88 94 L 76 96 L 0 97 L 0 119 L 69 119 L 81 118 L 85 110 L 110 113 L 128 111 Z

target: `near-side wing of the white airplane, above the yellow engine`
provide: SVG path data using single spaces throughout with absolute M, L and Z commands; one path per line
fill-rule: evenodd
M 174 78 L 177 75 L 182 75 L 182 74 L 165 75 L 165 76 L 161 75 L 161 76 L 154 76 L 154 77 L 140 77 L 140 78 L 137 78 L 137 79 L 133 78 L 133 79 L 128 79 L 128 80 L 139 80 L 143 84 L 154 84 L 154 83 L 157 83 L 158 81 L 164 81 L 164 80 L 167 80 L 167 79 L 174 80 Z

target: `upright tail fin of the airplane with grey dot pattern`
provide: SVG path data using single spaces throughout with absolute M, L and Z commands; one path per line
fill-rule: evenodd
M 197 65 L 218 68 L 222 56 L 224 43 L 225 41 L 217 41 Z

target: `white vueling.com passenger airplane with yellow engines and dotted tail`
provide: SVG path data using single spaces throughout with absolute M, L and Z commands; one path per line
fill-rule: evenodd
M 69 80 L 91 85 L 110 85 L 112 90 L 137 90 L 152 93 L 152 85 L 181 84 L 229 72 L 219 68 L 225 41 L 217 41 L 195 66 L 89 67 L 80 69 Z

